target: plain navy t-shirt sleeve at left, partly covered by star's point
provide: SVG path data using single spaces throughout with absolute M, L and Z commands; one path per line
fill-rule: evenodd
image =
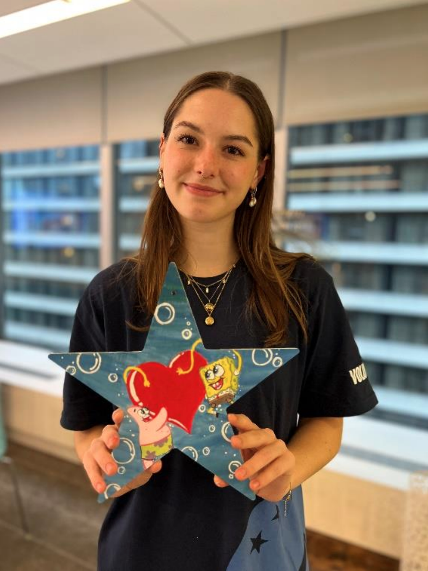
M 70 352 L 106 351 L 102 304 L 97 287 L 90 284 L 79 301 L 70 337 Z M 113 405 L 95 391 L 65 373 L 61 426 L 86 430 L 111 424 Z

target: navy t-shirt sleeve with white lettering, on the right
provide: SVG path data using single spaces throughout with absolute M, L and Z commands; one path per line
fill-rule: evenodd
M 375 407 L 378 400 L 333 280 L 321 268 L 315 273 L 299 415 L 360 415 Z

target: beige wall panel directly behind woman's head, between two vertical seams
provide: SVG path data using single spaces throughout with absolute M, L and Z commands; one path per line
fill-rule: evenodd
M 278 113 L 281 33 L 180 50 L 107 67 L 106 138 L 158 138 L 163 115 L 180 87 L 210 70 L 231 71 L 258 83 Z

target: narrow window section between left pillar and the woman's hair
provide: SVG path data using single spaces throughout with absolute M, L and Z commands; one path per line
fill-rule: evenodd
M 144 214 L 159 168 L 159 141 L 142 140 L 116 148 L 118 194 L 117 259 L 135 254 L 141 242 Z

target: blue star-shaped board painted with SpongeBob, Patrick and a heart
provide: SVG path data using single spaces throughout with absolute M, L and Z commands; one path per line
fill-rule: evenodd
M 170 264 L 142 351 L 53 353 L 49 358 L 124 409 L 119 465 L 104 501 L 142 466 L 178 448 L 245 496 L 234 477 L 241 456 L 230 446 L 226 407 L 297 355 L 295 348 L 206 349 L 175 264 Z

